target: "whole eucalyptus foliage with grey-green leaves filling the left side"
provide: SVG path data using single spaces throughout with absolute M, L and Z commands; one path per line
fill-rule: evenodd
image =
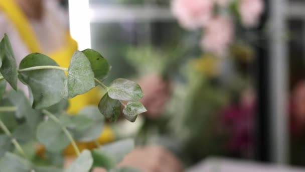
M 72 144 L 78 157 L 65 171 L 85 172 L 94 167 L 110 171 L 138 171 L 116 164 L 134 146 L 131 139 L 79 151 L 75 141 L 94 141 L 102 132 L 104 118 L 116 121 L 123 106 L 124 117 L 134 122 L 146 111 L 139 102 L 143 93 L 139 85 L 127 79 L 115 79 L 109 87 L 103 80 L 111 66 L 92 49 L 76 51 L 69 68 L 50 57 L 32 53 L 19 68 L 8 36 L 0 42 L 0 171 L 63 171 L 63 149 Z M 18 90 L 17 81 L 28 86 L 29 99 Z M 14 89 L 6 92 L 7 82 Z M 67 99 L 84 94 L 100 85 L 106 94 L 98 107 L 89 106 L 78 115 L 65 112 Z M 126 103 L 127 102 L 127 103 Z M 102 114 L 102 115 L 101 115 Z M 37 155 L 37 143 L 46 151 Z

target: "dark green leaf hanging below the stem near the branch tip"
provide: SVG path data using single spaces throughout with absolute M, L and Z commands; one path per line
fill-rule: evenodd
M 121 103 L 118 100 L 111 99 L 106 93 L 98 104 L 98 109 L 105 118 L 110 121 L 116 121 L 121 112 Z

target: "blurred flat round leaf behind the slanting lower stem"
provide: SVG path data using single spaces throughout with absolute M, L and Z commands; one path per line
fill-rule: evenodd
M 69 143 L 62 127 L 52 120 L 42 122 L 37 128 L 37 139 L 49 151 L 61 151 Z

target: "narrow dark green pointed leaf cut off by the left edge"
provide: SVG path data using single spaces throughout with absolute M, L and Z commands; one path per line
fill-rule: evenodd
M 0 42 L 0 66 L 1 74 L 10 83 L 12 88 L 17 90 L 17 63 L 7 34 L 4 34 Z

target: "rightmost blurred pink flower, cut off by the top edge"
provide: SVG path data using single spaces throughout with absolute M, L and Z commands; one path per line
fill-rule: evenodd
M 241 0 L 239 12 L 244 26 L 252 27 L 257 25 L 260 15 L 264 11 L 262 0 Z

